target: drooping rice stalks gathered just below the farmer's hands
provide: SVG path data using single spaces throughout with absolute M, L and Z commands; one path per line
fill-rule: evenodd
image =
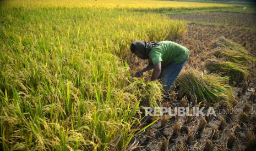
M 162 100 L 162 85 L 159 82 L 148 82 L 144 79 L 136 79 L 127 86 L 127 91 L 141 98 L 141 103 L 145 106 L 159 107 L 157 102 Z

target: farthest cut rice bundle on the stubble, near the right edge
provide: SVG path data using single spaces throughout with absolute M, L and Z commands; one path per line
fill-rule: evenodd
M 244 47 L 224 37 L 216 40 L 213 43 L 213 47 L 217 48 L 214 51 L 216 57 L 225 58 L 228 61 L 244 65 L 252 65 L 255 62 L 255 58 Z

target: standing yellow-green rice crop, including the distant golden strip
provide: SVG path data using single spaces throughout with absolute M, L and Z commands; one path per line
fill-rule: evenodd
M 161 92 L 158 82 L 130 80 L 129 44 L 176 39 L 187 25 L 135 9 L 230 6 L 0 2 L 0 150 L 126 149 L 146 128 L 140 124 L 141 97 L 161 100 L 161 95 L 152 95 Z

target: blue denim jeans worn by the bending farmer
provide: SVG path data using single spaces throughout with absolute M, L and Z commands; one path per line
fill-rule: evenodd
M 162 85 L 166 93 L 168 90 L 170 90 L 173 82 L 178 77 L 178 74 L 181 72 L 181 69 L 186 61 L 187 60 L 180 63 L 170 63 L 162 72 Z

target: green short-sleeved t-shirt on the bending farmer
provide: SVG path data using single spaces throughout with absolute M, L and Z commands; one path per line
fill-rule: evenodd
M 162 61 L 162 66 L 166 67 L 169 63 L 179 63 L 188 59 L 189 50 L 186 47 L 171 41 L 162 41 L 161 43 L 149 52 L 150 63 L 155 65 Z

